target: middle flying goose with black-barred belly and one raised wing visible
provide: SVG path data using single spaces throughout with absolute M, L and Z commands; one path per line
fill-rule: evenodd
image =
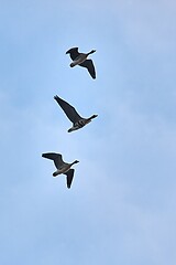
M 89 118 L 82 118 L 79 116 L 79 114 L 72 105 L 69 105 L 67 102 L 65 102 L 57 95 L 54 96 L 54 99 L 58 103 L 58 105 L 62 107 L 68 119 L 73 123 L 73 127 L 67 130 L 68 132 L 82 128 L 85 125 L 89 124 L 91 119 L 98 116 L 92 115 Z

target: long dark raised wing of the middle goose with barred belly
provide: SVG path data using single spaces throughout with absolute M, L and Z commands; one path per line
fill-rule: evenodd
M 76 109 L 70 106 L 67 102 L 58 97 L 57 95 L 54 96 L 54 99 L 58 103 L 58 105 L 63 108 L 64 113 L 68 117 L 68 119 L 75 124 L 78 120 L 82 119 L 79 114 L 76 112 Z

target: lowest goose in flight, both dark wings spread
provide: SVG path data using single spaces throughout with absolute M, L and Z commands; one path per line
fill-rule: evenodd
M 64 162 L 62 155 L 56 152 L 45 152 L 45 153 L 42 153 L 42 157 L 54 161 L 54 165 L 57 170 L 53 173 L 53 177 L 56 177 L 57 174 L 62 174 L 62 173 L 67 176 L 67 188 L 69 189 L 73 182 L 74 171 L 75 171 L 75 169 L 70 169 L 70 167 L 74 163 L 78 163 L 79 161 L 75 160 L 72 163 Z

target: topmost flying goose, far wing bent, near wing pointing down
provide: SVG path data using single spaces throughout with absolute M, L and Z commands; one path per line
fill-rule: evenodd
M 96 78 L 96 71 L 95 71 L 95 66 L 94 63 L 90 59 L 87 60 L 89 54 L 95 53 L 96 50 L 91 50 L 88 53 L 79 53 L 78 52 L 78 47 L 72 47 L 69 49 L 66 54 L 69 54 L 70 59 L 73 60 L 73 62 L 70 63 L 70 67 L 74 67 L 76 65 L 86 67 L 89 72 L 89 74 L 91 75 L 91 77 L 95 80 Z

